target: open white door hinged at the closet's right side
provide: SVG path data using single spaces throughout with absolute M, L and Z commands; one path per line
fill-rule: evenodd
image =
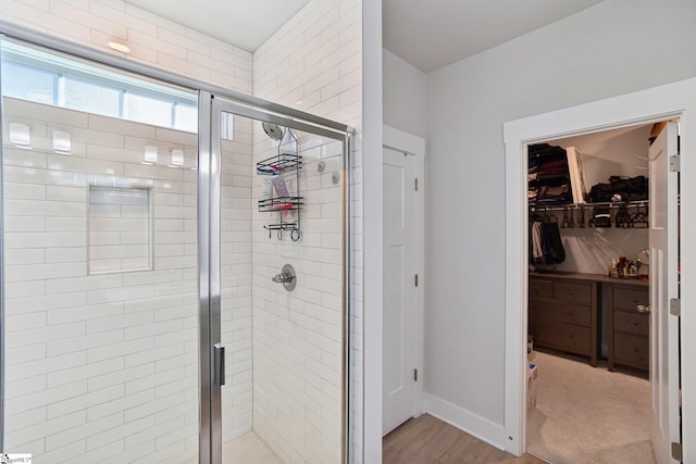
M 679 296 L 676 123 L 669 123 L 650 147 L 650 439 L 658 464 L 674 463 L 671 442 L 680 442 L 679 318 L 670 299 Z

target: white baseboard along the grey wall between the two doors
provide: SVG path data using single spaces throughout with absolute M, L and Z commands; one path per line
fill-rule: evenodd
M 460 406 L 423 394 L 425 412 L 500 450 L 506 449 L 505 428 Z

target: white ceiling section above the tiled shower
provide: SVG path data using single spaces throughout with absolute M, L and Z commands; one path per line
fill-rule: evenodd
M 254 51 L 309 0 L 125 0 L 158 16 Z

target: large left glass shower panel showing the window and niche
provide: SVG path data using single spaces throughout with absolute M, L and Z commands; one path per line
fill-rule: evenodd
M 2 45 L 2 452 L 197 462 L 197 96 Z

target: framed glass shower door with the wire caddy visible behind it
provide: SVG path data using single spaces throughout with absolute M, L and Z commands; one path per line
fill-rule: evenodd
M 345 462 L 346 135 L 221 99 L 211 127 L 222 462 Z

